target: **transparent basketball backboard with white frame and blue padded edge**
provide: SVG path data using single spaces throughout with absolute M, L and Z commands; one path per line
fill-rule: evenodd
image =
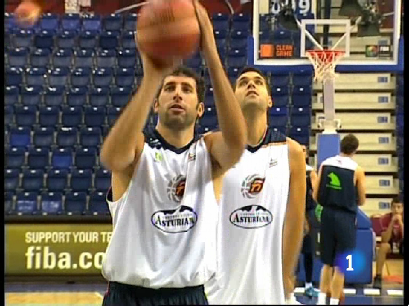
M 278 22 L 283 4 L 289 2 L 298 20 L 298 31 L 286 30 Z M 357 2 L 365 8 L 375 0 Z M 346 53 L 337 72 L 402 71 L 401 0 L 377 2 L 376 8 L 383 16 L 380 35 L 365 36 L 358 31 L 359 16 L 340 16 L 342 0 L 254 0 L 249 63 L 269 71 L 291 71 L 300 69 L 300 65 L 312 69 L 306 50 L 335 47 Z

